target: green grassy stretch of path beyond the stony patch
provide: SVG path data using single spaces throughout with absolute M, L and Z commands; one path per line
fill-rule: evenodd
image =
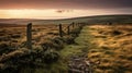
M 79 36 L 75 39 L 75 45 L 66 46 L 62 51 L 61 54 L 63 58 L 69 58 L 70 56 L 76 56 L 79 53 L 85 53 L 88 51 L 90 47 L 89 40 L 91 36 L 89 35 L 88 26 L 85 26 Z

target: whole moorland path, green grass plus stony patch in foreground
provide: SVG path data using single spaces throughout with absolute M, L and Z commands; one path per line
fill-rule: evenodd
M 91 73 L 91 68 L 85 61 L 89 48 L 92 47 L 90 40 L 92 40 L 92 36 L 89 34 L 89 26 L 85 26 L 75 39 L 75 44 L 66 46 L 61 51 L 63 60 L 68 62 L 69 73 Z

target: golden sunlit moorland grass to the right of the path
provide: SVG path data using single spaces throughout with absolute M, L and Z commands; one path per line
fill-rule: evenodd
M 132 69 L 131 66 L 132 34 L 130 29 L 131 27 L 132 27 L 131 25 L 90 26 L 91 29 L 90 34 L 94 36 L 94 40 L 91 42 L 97 45 L 97 49 L 95 49 L 96 52 L 88 53 L 88 57 L 91 60 L 95 60 L 94 58 L 95 56 L 101 56 L 96 57 L 97 59 L 101 60 L 101 64 L 98 66 L 96 72 L 117 73 L 121 71 L 120 68 L 122 68 L 122 70 L 125 73 L 131 72 Z M 114 32 L 119 32 L 121 34 L 116 34 Z

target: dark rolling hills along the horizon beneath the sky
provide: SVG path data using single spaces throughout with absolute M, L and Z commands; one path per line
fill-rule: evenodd
M 86 23 L 132 23 L 132 14 L 122 15 L 96 15 L 62 20 L 32 20 L 32 19 L 0 19 L 0 24 L 67 24 L 72 22 Z

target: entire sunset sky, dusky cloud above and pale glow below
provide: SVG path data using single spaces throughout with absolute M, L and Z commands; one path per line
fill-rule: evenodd
M 132 14 L 132 0 L 0 0 L 0 19 Z

